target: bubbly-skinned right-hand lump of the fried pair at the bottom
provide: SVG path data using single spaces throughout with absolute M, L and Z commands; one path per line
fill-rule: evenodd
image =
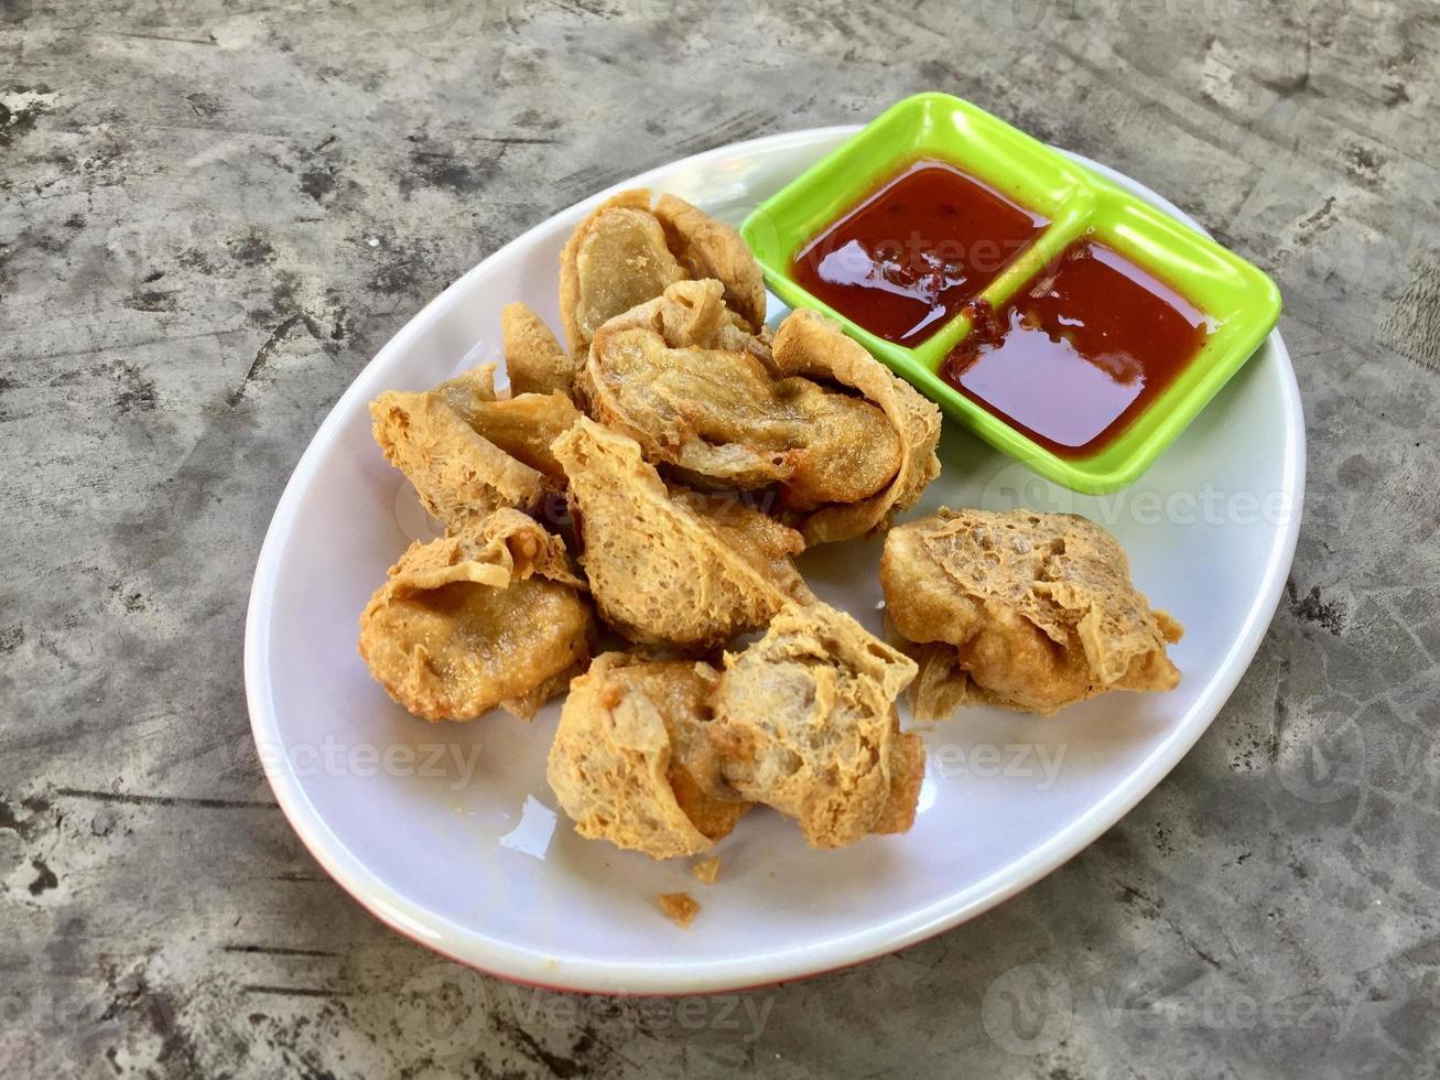
M 894 701 L 916 665 L 844 612 L 791 605 L 760 641 L 726 654 L 707 729 L 740 795 L 838 848 L 914 821 L 924 747 Z

